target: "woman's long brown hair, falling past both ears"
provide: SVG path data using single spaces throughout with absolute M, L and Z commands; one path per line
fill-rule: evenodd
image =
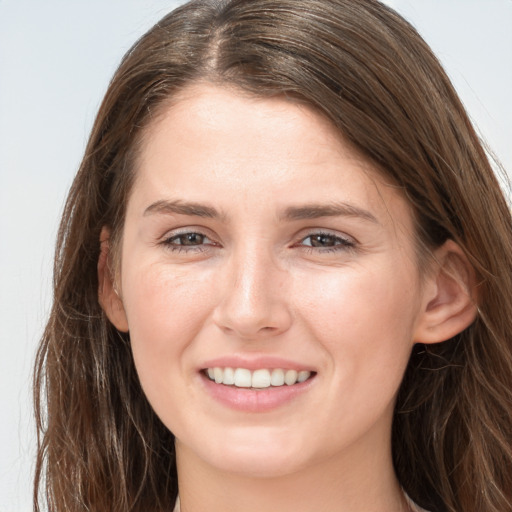
M 447 239 L 478 280 L 460 335 L 416 345 L 397 399 L 393 457 L 407 493 L 439 512 L 512 511 L 512 221 L 439 62 L 376 0 L 197 0 L 121 62 L 59 230 L 54 303 L 38 352 L 34 507 L 164 511 L 177 495 L 173 436 L 138 382 L 129 335 L 98 303 L 100 232 L 122 235 L 145 126 L 210 81 L 313 106 L 408 198 L 418 250 Z

